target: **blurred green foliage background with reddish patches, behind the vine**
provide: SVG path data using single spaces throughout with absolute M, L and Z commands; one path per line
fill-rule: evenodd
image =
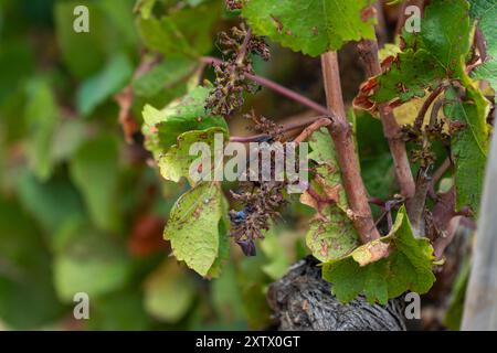
M 73 30 L 77 4 L 89 9 L 89 33 Z M 187 185 L 148 165 L 139 133 L 126 142 L 115 98 L 131 87 L 139 126 L 145 103 L 163 107 L 192 79 L 212 79 L 197 58 L 219 56 L 215 32 L 236 22 L 221 0 L 0 0 L 0 329 L 271 327 L 267 286 L 305 256 L 309 211 L 289 206 L 257 257 L 233 247 L 219 279 L 200 278 L 162 239 Z M 138 77 L 150 53 L 160 63 Z M 318 61 L 274 46 L 255 68 L 324 101 Z M 343 81 L 349 98 L 361 75 Z M 247 106 L 275 119 L 308 115 L 266 90 Z M 387 196 L 381 126 L 359 116 L 357 133 L 368 188 Z M 89 296 L 89 320 L 73 318 L 76 292 Z

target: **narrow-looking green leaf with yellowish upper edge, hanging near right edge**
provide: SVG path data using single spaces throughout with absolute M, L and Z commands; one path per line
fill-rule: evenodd
M 455 161 L 455 188 L 457 207 L 469 205 L 479 208 L 487 161 L 489 129 L 486 122 L 489 104 L 482 93 L 470 85 L 463 100 L 451 88 L 446 92 L 444 113 L 452 120 L 461 121 L 465 128 L 451 141 Z

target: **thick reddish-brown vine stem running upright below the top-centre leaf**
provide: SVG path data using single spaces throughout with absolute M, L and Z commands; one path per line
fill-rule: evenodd
M 337 53 L 328 52 L 322 54 L 321 67 L 328 109 L 337 113 L 328 129 L 335 142 L 338 163 L 343 176 L 343 189 L 353 213 L 353 226 L 359 233 L 361 242 L 367 244 L 380 238 L 380 233 L 374 225 L 368 193 L 359 172 L 359 160 L 352 141 L 351 127 L 346 118 Z

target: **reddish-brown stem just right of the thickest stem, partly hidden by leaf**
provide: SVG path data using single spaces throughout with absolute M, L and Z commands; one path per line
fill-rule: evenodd
M 359 42 L 358 50 L 364 62 L 368 76 L 380 75 L 381 66 L 378 57 L 378 43 L 376 41 L 364 40 Z M 379 110 L 383 125 L 383 133 L 388 140 L 395 167 L 396 182 L 399 183 L 402 196 L 409 200 L 414 195 L 415 183 L 405 150 L 405 142 L 400 138 L 400 126 L 396 124 L 393 114 L 389 110 L 388 105 L 380 104 Z

